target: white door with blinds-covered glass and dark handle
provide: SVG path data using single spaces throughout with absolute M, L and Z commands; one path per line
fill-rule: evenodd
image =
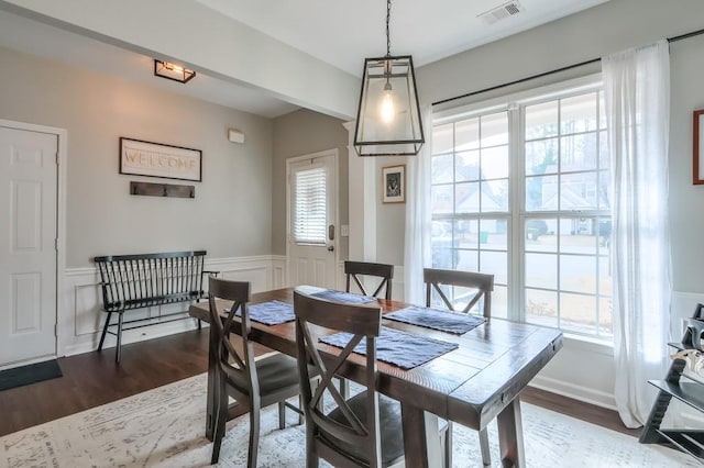
M 286 168 L 290 283 L 336 288 L 338 152 L 293 158 Z

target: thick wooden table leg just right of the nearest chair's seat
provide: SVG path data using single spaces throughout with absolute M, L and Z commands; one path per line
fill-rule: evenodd
M 406 467 L 440 468 L 442 450 L 438 432 L 438 416 L 402 403 L 404 452 Z

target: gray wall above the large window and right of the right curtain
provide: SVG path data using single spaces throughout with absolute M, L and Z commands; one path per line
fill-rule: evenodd
M 419 94 L 437 102 L 510 82 L 628 47 L 704 27 L 700 0 L 610 0 L 544 26 L 458 54 L 418 70 Z M 692 111 L 704 108 L 704 36 L 671 43 L 670 221 L 673 287 L 704 292 L 704 186 L 692 186 Z M 504 89 L 532 88 L 598 70 L 583 67 L 561 76 Z M 496 93 L 494 93 L 495 96 Z M 487 94 L 472 98 L 486 99 Z M 403 224 L 402 224 L 403 226 Z M 380 252 L 384 246 L 378 246 Z

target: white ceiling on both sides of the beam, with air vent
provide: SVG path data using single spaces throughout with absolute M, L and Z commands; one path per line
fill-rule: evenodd
M 190 0 L 353 76 L 386 53 L 383 0 Z M 391 52 L 416 67 L 526 31 L 607 0 L 405 0 L 392 4 Z M 516 9 L 509 4 L 515 4 Z M 493 11 L 493 12 L 492 12 Z M 482 13 L 488 12 L 484 19 Z M 488 24 L 485 19 L 496 20 Z M 298 105 L 261 89 L 199 74 L 184 86 L 155 79 L 152 58 L 0 10 L 0 46 L 66 62 L 266 118 Z

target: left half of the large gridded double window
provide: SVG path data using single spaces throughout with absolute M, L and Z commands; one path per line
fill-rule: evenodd
M 508 113 L 435 129 L 443 145 L 433 146 L 431 158 L 432 266 L 496 275 L 495 290 L 503 288 L 504 294 L 498 305 L 493 298 L 492 309 L 496 316 L 507 316 Z M 447 183 L 451 177 L 452 183 Z M 483 218 L 496 212 L 505 214 Z M 446 292 L 461 303 L 466 291 L 448 288 Z

